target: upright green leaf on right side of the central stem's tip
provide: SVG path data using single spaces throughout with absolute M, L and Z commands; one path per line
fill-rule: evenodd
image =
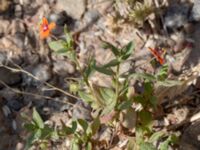
M 132 52 L 133 52 L 133 49 L 134 49 L 134 45 L 133 45 L 133 42 L 129 42 L 123 49 L 122 49 L 122 57 L 121 59 L 122 60 L 126 60 L 128 59 Z

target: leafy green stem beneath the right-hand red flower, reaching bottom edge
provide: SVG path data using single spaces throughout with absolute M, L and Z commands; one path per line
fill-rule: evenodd
M 164 65 L 155 75 L 148 73 L 134 73 L 131 75 L 131 77 L 138 78 L 144 84 L 143 93 L 134 96 L 132 100 L 142 106 L 142 110 L 137 113 L 136 137 L 130 140 L 130 145 L 128 146 L 133 150 L 168 150 L 169 144 L 177 143 L 177 136 L 175 134 L 169 134 L 165 131 L 155 132 L 152 124 L 153 114 L 156 112 L 158 106 L 158 101 L 154 94 L 155 86 L 174 86 L 180 83 L 178 81 L 168 80 L 167 71 L 168 66 Z M 155 143 L 157 143 L 157 147 Z

